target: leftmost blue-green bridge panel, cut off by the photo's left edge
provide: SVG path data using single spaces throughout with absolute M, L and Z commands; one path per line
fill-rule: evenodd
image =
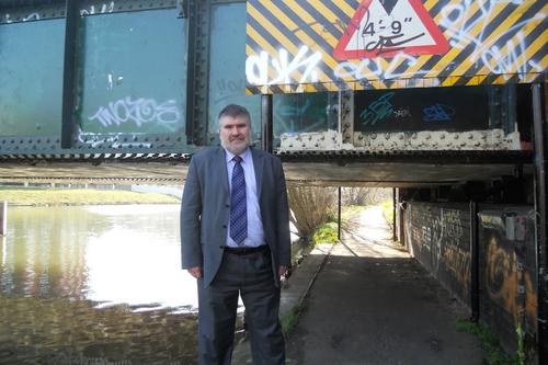
M 0 150 L 59 147 L 64 38 L 62 19 L 0 25 L 0 136 L 22 137 Z

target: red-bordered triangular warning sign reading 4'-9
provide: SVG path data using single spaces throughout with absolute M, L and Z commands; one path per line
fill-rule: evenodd
M 438 55 L 449 43 L 421 0 L 363 0 L 339 41 L 339 60 Z

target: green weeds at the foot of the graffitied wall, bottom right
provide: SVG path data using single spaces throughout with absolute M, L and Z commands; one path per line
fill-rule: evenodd
M 506 354 L 499 345 L 499 338 L 494 335 L 487 327 L 472 323 L 467 318 L 457 318 L 457 331 L 465 331 L 476 334 L 480 342 L 481 351 L 489 365 L 523 365 L 518 355 L 511 356 Z

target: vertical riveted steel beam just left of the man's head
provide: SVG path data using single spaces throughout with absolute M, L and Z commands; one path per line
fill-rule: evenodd
M 189 70 L 186 80 L 186 142 L 205 145 L 210 36 L 209 1 L 189 1 Z

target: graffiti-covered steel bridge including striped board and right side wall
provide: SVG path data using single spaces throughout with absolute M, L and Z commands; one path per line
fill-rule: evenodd
M 398 239 L 546 364 L 547 15 L 546 0 L 0 0 L 0 182 L 183 184 L 241 104 L 289 184 L 396 189 Z

